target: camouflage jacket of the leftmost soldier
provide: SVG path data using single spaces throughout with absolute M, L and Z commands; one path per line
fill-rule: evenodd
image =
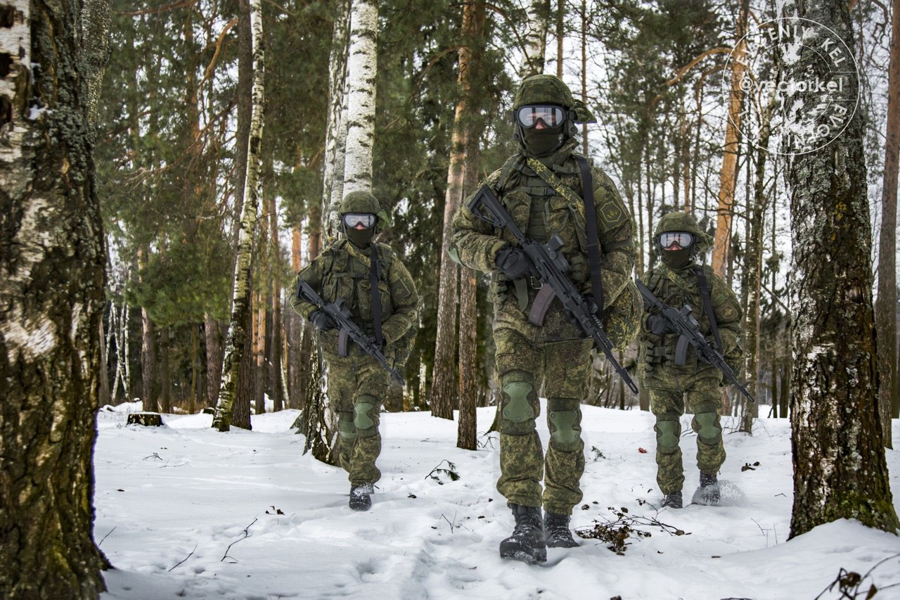
M 419 295 L 410 271 L 387 244 L 378 243 L 378 259 L 382 265 L 378 292 L 382 304 L 382 332 L 388 345 L 401 339 L 416 323 Z M 369 250 L 360 250 L 346 239 L 331 244 L 306 268 L 297 274 L 293 289 L 306 281 L 326 302 L 338 298 L 347 301 L 353 320 L 367 333 L 374 332 L 372 316 L 372 283 L 369 280 Z M 293 310 L 308 319 L 315 305 L 302 302 L 296 292 L 291 296 Z M 325 350 L 337 351 L 338 334 L 334 330 L 322 335 Z

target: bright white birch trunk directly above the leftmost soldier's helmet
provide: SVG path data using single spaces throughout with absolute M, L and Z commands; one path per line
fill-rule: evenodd
M 350 50 L 347 56 L 347 151 L 344 194 L 372 189 L 375 138 L 375 73 L 378 5 L 355 0 L 350 7 Z

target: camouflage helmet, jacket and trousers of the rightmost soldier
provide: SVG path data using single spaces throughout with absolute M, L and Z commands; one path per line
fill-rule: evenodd
M 699 229 L 697 221 L 690 214 L 678 212 L 665 215 L 654 237 L 662 232 L 690 232 L 698 237 L 702 249 L 705 250 L 708 246 L 708 236 Z M 734 364 L 742 355 L 739 344 L 741 305 L 721 277 L 716 276 L 708 266 L 701 268 L 707 278 L 707 285 L 711 288 L 710 302 L 722 338 L 723 354 L 725 359 Z M 678 308 L 689 305 L 699 323 L 700 332 L 716 346 L 703 307 L 694 263 L 673 269 L 659 261 L 644 274 L 643 281 L 663 303 Z M 675 345 L 678 336 L 673 333 L 655 335 L 650 332 L 647 319 L 652 314 L 658 313 L 650 309 L 642 319 L 638 338 L 638 369 L 644 387 L 650 392 L 650 407 L 656 416 L 653 429 L 656 432 L 657 483 L 663 494 L 671 494 L 680 490 L 684 484 L 678 440 L 681 433 L 680 416 L 685 410 L 694 413 L 691 426 L 698 432 L 697 463 L 700 471 L 716 474 L 725 462 L 722 426 L 718 416 L 722 402 L 719 387 L 724 382 L 719 369 L 698 360 L 693 352 L 688 352 L 684 366 L 676 365 Z

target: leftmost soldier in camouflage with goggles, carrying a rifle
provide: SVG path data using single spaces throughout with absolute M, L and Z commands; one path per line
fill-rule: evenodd
M 291 306 L 320 331 L 328 364 L 328 395 L 338 413 L 340 463 L 350 479 L 350 508 L 372 506 L 382 477 L 375 460 L 384 395 L 412 347 L 419 295 L 391 247 L 374 241 L 390 224 L 369 192 L 350 192 L 340 205 L 344 237 L 298 274 Z M 310 415 L 316 418 L 316 415 Z

